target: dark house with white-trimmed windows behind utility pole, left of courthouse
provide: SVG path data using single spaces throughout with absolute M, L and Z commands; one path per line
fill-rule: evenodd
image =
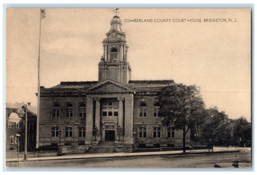
M 27 150 L 36 147 L 36 120 L 37 108 L 27 105 Z M 25 141 L 25 104 L 6 103 L 6 151 L 17 151 L 17 137 L 19 137 L 19 150 L 24 150 Z

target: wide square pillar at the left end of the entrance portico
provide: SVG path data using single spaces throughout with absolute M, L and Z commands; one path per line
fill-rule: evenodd
M 87 98 L 87 109 L 86 109 L 86 145 L 91 145 L 93 140 L 93 98 Z

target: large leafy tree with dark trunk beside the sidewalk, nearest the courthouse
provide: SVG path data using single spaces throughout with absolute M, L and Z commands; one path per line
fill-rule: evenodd
M 205 117 L 200 88 L 183 84 L 166 86 L 157 93 L 156 99 L 160 104 L 162 125 L 173 125 L 176 130 L 183 131 L 183 152 L 186 152 L 187 132 L 195 125 L 200 125 Z

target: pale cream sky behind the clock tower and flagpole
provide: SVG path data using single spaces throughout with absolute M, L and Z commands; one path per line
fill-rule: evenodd
M 113 9 L 46 8 L 40 42 L 40 85 L 97 81 L 102 41 Z M 40 9 L 6 10 L 6 103 L 37 106 Z M 120 9 L 132 80 L 201 87 L 206 107 L 251 121 L 249 9 Z M 236 22 L 204 22 L 228 18 Z M 125 22 L 152 19 L 153 22 Z M 154 22 L 171 19 L 171 22 Z M 172 22 L 186 19 L 186 22 Z M 188 22 L 201 19 L 203 22 Z M 167 20 L 169 21 L 169 20 Z

